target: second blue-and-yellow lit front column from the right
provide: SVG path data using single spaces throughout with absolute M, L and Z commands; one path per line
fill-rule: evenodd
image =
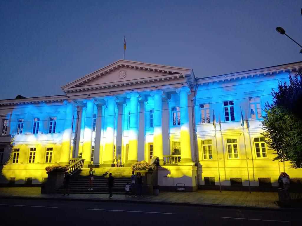
M 159 158 L 159 164 L 163 163 L 163 146 L 162 146 L 162 90 L 150 93 L 154 96 L 154 132 L 153 132 L 153 153 Z

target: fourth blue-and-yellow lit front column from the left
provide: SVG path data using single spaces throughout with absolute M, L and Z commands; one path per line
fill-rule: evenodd
M 130 126 L 129 126 L 129 153 L 128 163 L 137 162 L 137 107 L 138 93 L 129 93 L 130 98 Z

